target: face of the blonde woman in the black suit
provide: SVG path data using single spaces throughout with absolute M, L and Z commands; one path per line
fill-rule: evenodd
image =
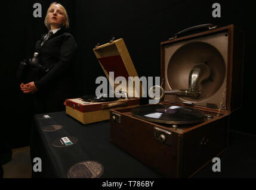
M 47 21 L 51 26 L 51 30 L 62 27 L 65 22 L 63 9 L 59 5 L 51 5 Z

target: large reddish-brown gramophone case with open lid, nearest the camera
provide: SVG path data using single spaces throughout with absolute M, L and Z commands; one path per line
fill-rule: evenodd
M 193 108 L 207 117 L 198 124 L 159 124 L 138 118 L 132 108 L 115 109 L 110 111 L 110 141 L 163 176 L 193 176 L 228 147 L 230 114 L 242 106 L 243 41 L 243 32 L 229 25 L 162 42 L 165 91 L 186 89 L 198 63 L 207 64 L 211 74 L 200 85 L 199 97 L 165 94 L 159 105 Z

